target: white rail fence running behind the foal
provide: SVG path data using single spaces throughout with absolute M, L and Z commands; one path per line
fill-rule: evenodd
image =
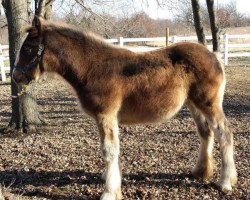
M 250 49 L 249 52 L 230 52 L 232 48 L 250 48 L 250 43 L 230 43 L 229 39 L 249 39 L 250 41 L 250 34 L 244 35 L 221 35 L 222 44 L 221 44 L 221 52 L 222 52 L 222 59 L 224 60 L 224 64 L 228 65 L 228 58 L 230 57 L 250 57 Z M 212 40 L 212 36 L 206 36 L 206 40 Z M 125 47 L 130 49 L 131 51 L 135 52 L 146 52 L 156 50 L 162 47 L 149 47 L 149 46 L 125 46 L 127 43 L 139 43 L 139 42 L 164 42 L 166 44 L 166 37 L 151 37 L 151 38 L 123 38 L 119 37 L 118 39 L 106 39 L 108 43 L 118 44 L 120 47 Z M 171 36 L 168 38 L 169 43 L 177 43 L 182 41 L 197 41 L 196 36 Z M 212 45 L 207 45 L 209 49 L 212 49 Z M 1 45 L 0 44 L 0 70 L 1 70 L 1 79 L 2 81 L 6 81 L 6 71 L 10 71 L 10 67 L 6 66 L 6 60 L 9 60 L 9 57 L 3 54 L 3 51 L 9 49 L 8 45 Z

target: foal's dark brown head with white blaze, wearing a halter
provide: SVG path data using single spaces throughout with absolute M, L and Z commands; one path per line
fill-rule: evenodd
M 13 80 L 18 84 L 28 84 L 33 79 L 37 80 L 44 71 L 42 22 L 41 18 L 35 16 L 32 27 L 26 30 L 28 35 L 20 48 L 12 73 Z

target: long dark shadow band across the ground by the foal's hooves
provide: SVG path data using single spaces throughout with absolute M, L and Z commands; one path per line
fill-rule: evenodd
M 87 191 L 82 191 L 81 195 L 75 194 L 54 194 L 43 191 L 41 188 L 45 187 L 57 187 L 63 188 L 67 185 L 86 185 L 93 188 L 102 187 L 103 181 L 101 180 L 100 173 L 91 173 L 84 171 L 35 171 L 35 170 L 10 170 L 1 171 L 0 179 L 2 184 L 12 188 L 12 191 L 16 193 L 22 192 L 25 196 L 41 197 L 50 199 L 83 199 L 82 195 L 88 196 L 87 199 L 94 200 L 99 199 L 100 196 L 93 196 L 88 194 Z M 187 180 L 189 180 L 187 182 Z M 144 173 L 139 172 L 137 174 L 124 174 L 123 175 L 123 187 L 135 187 L 139 186 L 156 186 L 156 187 L 168 187 L 173 188 L 188 188 L 192 187 L 197 190 L 203 189 L 218 189 L 214 183 L 206 184 L 195 180 L 189 173 L 180 174 L 166 174 L 166 173 Z M 25 189 L 32 186 L 32 190 Z M 24 190 L 23 190 L 24 189 Z M 86 192 L 86 194 L 84 194 Z M 84 199 L 85 199 L 84 198 Z

